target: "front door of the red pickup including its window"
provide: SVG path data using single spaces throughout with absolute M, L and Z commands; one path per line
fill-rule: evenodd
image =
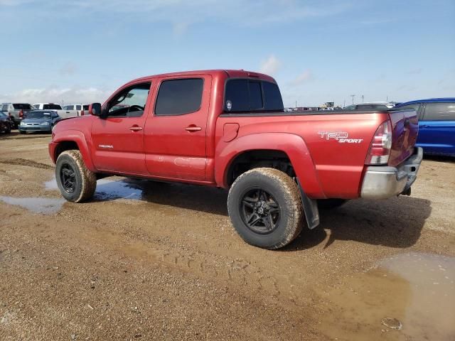
M 100 171 L 146 175 L 144 126 L 151 83 L 119 90 L 107 102 L 107 117 L 92 125 L 92 158 Z

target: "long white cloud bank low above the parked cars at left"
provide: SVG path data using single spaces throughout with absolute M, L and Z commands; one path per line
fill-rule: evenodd
M 104 102 L 112 90 L 100 90 L 95 87 L 88 88 L 58 88 L 49 87 L 41 89 L 24 89 L 13 94 L 0 94 L 1 102 L 51 102 L 51 103 L 82 103 Z

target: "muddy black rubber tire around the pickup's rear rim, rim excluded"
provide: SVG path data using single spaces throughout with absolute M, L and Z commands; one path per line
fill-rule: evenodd
M 279 205 L 279 220 L 272 232 L 255 232 L 242 219 L 245 193 L 258 188 L 272 195 Z M 289 175 L 274 168 L 254 168 L 240 175 L 229 191 L 228 212 L 240 237 L 264 249 L 279 249 L 292 242 L 301 232 L 304 217 L 299 186 Z

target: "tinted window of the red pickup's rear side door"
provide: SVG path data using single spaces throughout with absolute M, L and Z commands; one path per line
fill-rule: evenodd
M 156 96 L 155 114 L 164 116 L 197 112 L 202 102 L 203 87 L 201 78 L 164 80 Z

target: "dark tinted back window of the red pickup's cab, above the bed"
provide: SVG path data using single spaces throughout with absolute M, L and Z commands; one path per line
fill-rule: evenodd
M 276 84 L 257 80 L 228 80 L 225 112 L 283 111 L 282 95 Z

